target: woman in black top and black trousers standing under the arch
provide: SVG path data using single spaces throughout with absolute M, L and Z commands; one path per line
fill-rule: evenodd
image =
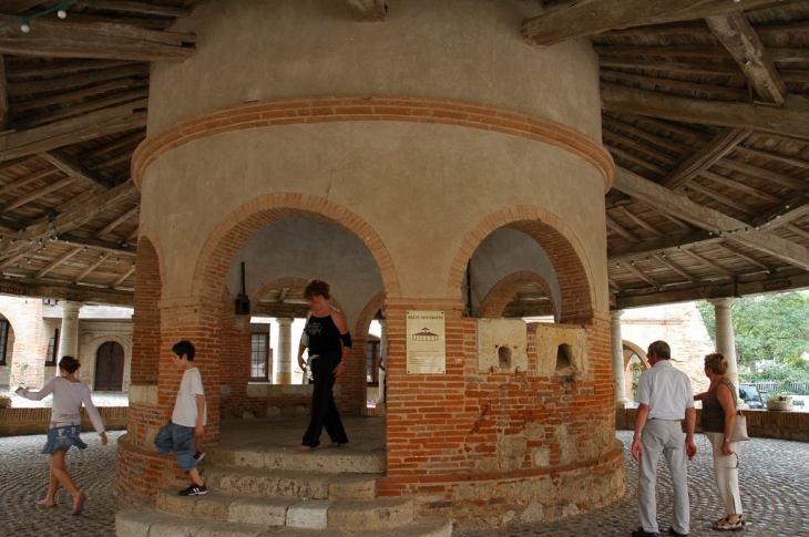
M 328 300 L 330 286 L 322 280 L 311 280 L 304 289 L 304 298 L 311 308 L 298 345 L 298 365 L 305 369 L 304 350 L 309 348 L 311 375 L 315 386 L 311 394 L 311 420 L 298 451 L 305 452 L 320 444 L 320 433 L 326 427 L 331 442 L 337 446 L 348 443 L 337 412 L 331 389 L 335 380 L 346 372 L 346 362 L 351 352 L 351 334 L 346 317 Z

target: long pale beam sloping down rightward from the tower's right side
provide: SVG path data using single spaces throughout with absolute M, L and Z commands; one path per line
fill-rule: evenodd
M 614 187 L 624 194 L 642 199 L 644 203 L 666 207 L 666 210 L 674 213 L 677 217 L 692 221 L 704 229 L 735 230 L 749 227 L 749 224 L 709 207 L 703 207 L 683 196 L 677 196 L 670 190 L 624 168 L 616 168 Z M 809 249 L 776 235 L 749 229 L 749 233 L 728 234 L 727 238 L 809 270 Z

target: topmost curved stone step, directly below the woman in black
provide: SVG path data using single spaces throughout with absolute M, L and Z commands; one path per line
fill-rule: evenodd
M 332 474 L 383 474 L 385 451 L 360 451 L 349 446 L 317 447 L 299 452 L 293 447 L 248 447 L 227 450 L 211 447 L 206 463 L 252 468 L 299 469 Z

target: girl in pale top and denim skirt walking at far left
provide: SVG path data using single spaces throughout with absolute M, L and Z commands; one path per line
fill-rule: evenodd
M 25 388 L 18 388 L 17 393 L 33 400 L 41 401 L 47 395 L 53 394 L 53 407 L 51 411 L 51 428 L 48 431 L 48 441 L 42 447 L 42 453 L 50 455 L 50 484 L 48 496 L 39 502 L 42 507 L 57 506 L 57 488 L 62 486 L 73 497 L 73 515 L 78 515 L 84 508 L 88 496 L 79 490 L 64 467 L 64 456 L 70 446 L 74 445 L 84 450 L 88 445 L 82 442 L 81 432 L 81 405 L 88 410 L 90 420 L 95 431 L 101 435 L 101 443 L 106 445 L 107 438 L 104 432 L 104 423 L 90 396 L 90 389 L 75 378 L 75 372 L 81 364 L 73 357 L 64 357 L 59 361 L 59 373 L 45 384 L 39 392 L 32 392 Z

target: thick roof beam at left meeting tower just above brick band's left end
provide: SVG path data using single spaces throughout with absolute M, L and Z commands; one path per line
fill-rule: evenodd
M 136 101 L 2 136 L 0 137 L 0 162 L 43 153 L 107 134 L 144 127 L 147 105 L 146 100 Z

